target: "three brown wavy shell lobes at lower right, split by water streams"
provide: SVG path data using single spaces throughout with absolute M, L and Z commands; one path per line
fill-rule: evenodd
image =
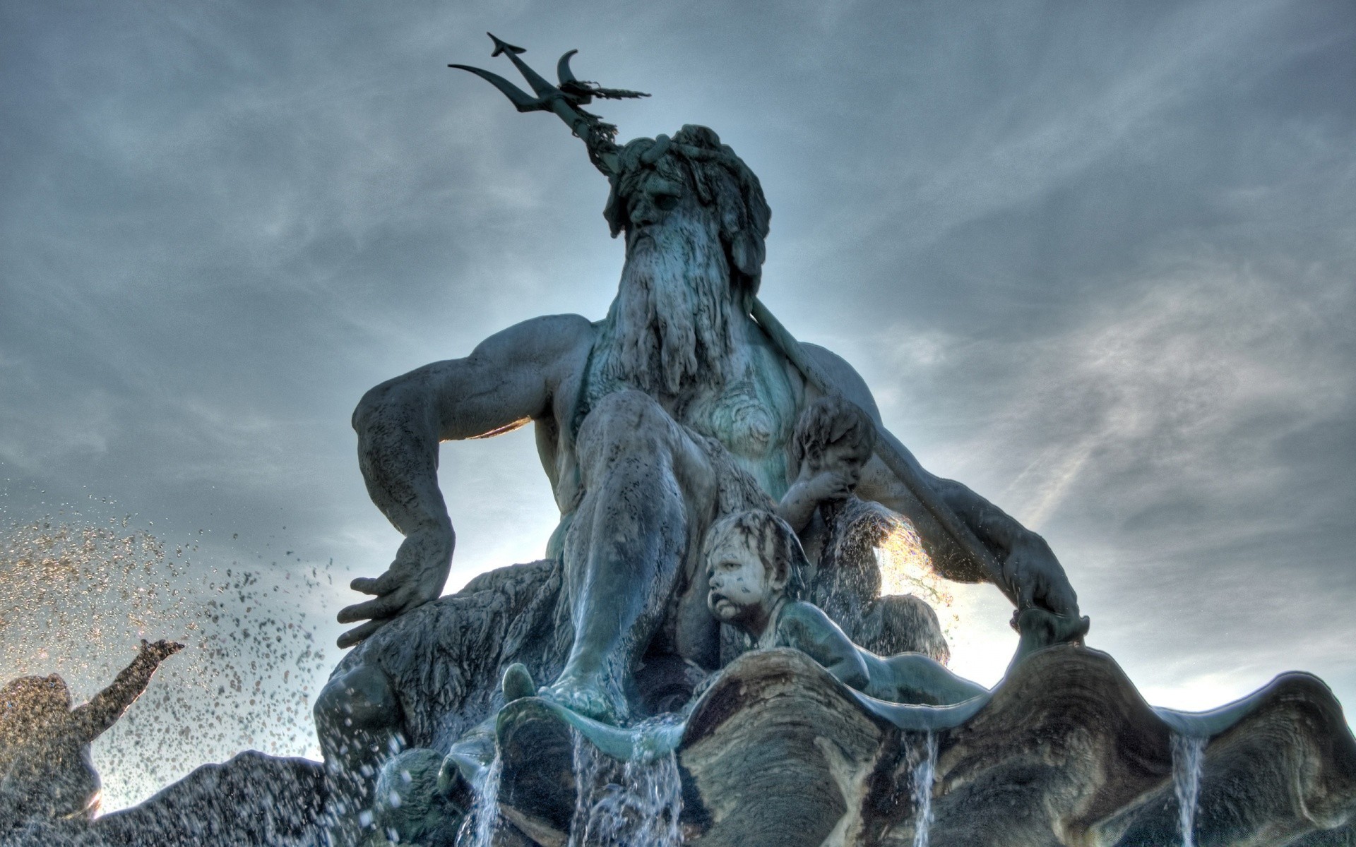
M 683 736 L 693 843 L 913 844 L 925 709 L 876 707 L 791 650 L 740 657 Z M 1172 729 L 1106 655 L 1041 650 L 971 717 L 952 714 L 934 722 L 932 844 L 1180 843 Z M 1205 747 L 1199 844 L 1349 839 L 1356 740 L 1322 683 L 1284 675 L 1223 717 Z

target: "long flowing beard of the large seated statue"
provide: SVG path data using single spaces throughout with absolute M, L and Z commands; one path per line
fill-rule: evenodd
M 723 384 L 734 348 L 732 309 L 730 267 L 713 222 L 674 210 L 626 248 L 607 313 L 603 375 L 655 397 L 675 397 L 698 378 Z

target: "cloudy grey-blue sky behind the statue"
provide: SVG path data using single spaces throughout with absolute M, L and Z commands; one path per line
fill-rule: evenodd
M 1089 642 L 1151 702 L 1307 669 L 1356 703 L 1345 0 L 4 3 L 8 546 L 126 520 L 179 569 L 148 577 L 178 611 L 77 660 L 88 633 L 33 621 L 137 585 L 38 596 L 47 577 L 0 562 L 28 585 L 0 676 L 58 669 L 85 697 L 245 562 L 271 599 L 232 588 L 252 611 L 229 614 L 305 615 L 321 650 L 270 678 L 305 716 L 348 579 L 399 542 L 357 469 L 358 397 L 616 290 L 583 145 L 446 68 L 511 76 L 485 30 L 548 75 L 578 47 L 582 79 L 652 92 L 599 108 L 624 140 L 702 123 L 740 153 L 773 207 L 765 302 L 861 371 L 929 469 L 1045 535 Z M 445 446 L 442 478 L 449 590 L 541 554 L 530 432 Z M 993 683 L 1003 603 L 959 598 L 955 668 Z M 231 659 L 191 653 L 157 684 L 216 690 Z M 311 744 L 300 720 L 222 726 L 187 759 Z M 106 781 L 113 805 L 144 790 Z

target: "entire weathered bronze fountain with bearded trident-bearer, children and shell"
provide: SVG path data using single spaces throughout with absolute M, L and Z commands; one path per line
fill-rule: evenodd
M 363 397 L 362 470 L 405 542 L 339 614 L 323 766 L 243 753 L 123 812 L 0 824 L 0 847 L 1352 843 L 1356 739 L 1321 680 L 1146 703 L 1045 542 L 928 474 L 758 299 L 770 211 L 734 150 L 700 126 L 620 145 L 583 107 L 645 95 L 494 43 L 532 94 L 456 66 L 560 117 L 609 180 L 607 317 L 527 321 Z M 546 557 L 439 596 L 438 442 L 529 420 L 561 505 Z M 899 533 L 1017 608 L 993 690 L 884 591 Z

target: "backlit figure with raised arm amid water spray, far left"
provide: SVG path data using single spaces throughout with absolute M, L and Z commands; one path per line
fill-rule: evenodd
M 91 817 L 99 774 L 89 744 L 141 697 L 160 663 L 183 649 L 141 641 L 113 684 L 76 709 L 64 679 L 20 676 L 0 687 L 0 832 L 34 817 Z

